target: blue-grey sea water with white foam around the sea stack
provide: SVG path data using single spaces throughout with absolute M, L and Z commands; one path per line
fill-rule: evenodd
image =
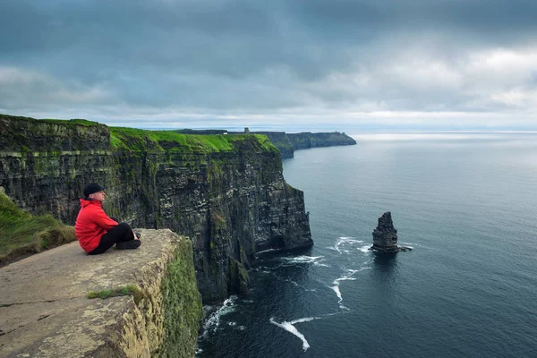
M 315 246 L 267 252 L 199 357 L 536 357 L 537 133 L 362 133 L 284 161 Z M 377 257 L 390 210 L 399 243 Z

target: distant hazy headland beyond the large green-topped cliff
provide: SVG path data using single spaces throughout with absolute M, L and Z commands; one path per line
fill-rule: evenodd
M 183 129 L 175 132 L 187 134 L 223 134 L 229 133 L 233 135 L 243 134 L 243 132 L 227 132 L 226 130 L 192 130 Z M 270 141 L 279 149 L 282 158 L 293 158 L 294 150 L 310 149 L 318 147 L 333 147 L 343 145 L 355 145 L 356 141 L 342 132 L 302 132 L 302 133 L 286 133 L 286 132 L 250 132 L 251 134 L 266 135 Z

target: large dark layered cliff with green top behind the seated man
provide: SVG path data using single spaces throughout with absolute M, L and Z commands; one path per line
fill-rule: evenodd
M 303 192 L 260 135 L 194 136 L 0 116 L 0 185 L 22 209 L 73 224 L 86 183 L 132 226 L 192 237 L 206 302 L 242 292 L 256 251 L 311 246 Z

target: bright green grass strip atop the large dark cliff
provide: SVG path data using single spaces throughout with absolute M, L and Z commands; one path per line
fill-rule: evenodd
M 115 149 L 129 150 L 181 150 L 184 152 L 210 153 L 234 151 L 241 141 L 252 141 L 260 149 L 277 151 L 265 135 L 249 134 L 183 134 L 174 131 L 148 131 L 136 128 L 109 127 L 110 144 Z

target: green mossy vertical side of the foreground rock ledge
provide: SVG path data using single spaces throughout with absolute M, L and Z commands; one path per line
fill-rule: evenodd
M 201 296 L 196 285 L 192 243 L 182 240 L 162 281 L 165 338 L 158 357 L 192 357 L 201 320 Z

